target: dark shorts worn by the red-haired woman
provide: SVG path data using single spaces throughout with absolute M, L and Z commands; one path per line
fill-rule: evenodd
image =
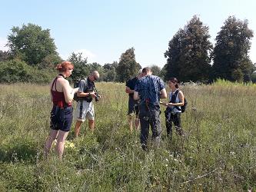
M 53 106 L 50 119 L 50 127 L 53 130 L 70 131 L 73 120 L 73 108 Z

